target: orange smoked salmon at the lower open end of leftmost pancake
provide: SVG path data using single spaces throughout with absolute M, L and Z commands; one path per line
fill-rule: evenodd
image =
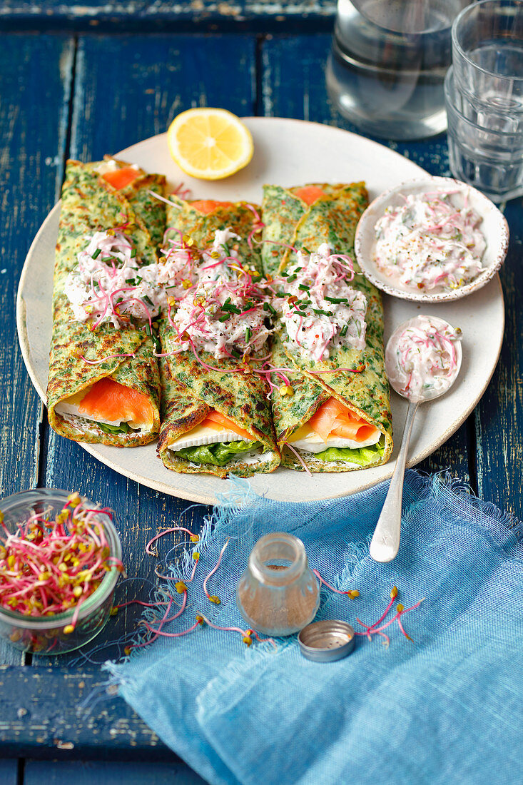
M 119 385 L 112 378 L 95 382 L 79 403 L 80 414 L 108 422 L 133 422 L 152 427 L 154 412 L 150 401 L 137 390 Z

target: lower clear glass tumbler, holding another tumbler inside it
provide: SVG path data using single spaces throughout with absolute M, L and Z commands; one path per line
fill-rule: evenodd
M 458 180 L 474 185 L 492 202 L 523 194 L 523 133 L 481 126 L 461 111 L 454 69 L 444 81 L 448 159 Z

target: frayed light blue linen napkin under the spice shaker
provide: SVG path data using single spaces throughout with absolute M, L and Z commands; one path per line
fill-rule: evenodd
M 247 648 L 236 633 L 197 627 L 109 663 L 119 693 L 163 741 L 210 783 L 520 783 L 523 728 L 523 527 L 443 476 L 406 475 L 400 553 L 368 556 L 388 484 L 330 502 L 289 504 L 231 482 L 215 508 L 177 632 L 203 612 L 241 626 L 236 583 L 254 542 L 290 531 L 309 564 L 349 600 L 322 588 L 316 619 L 373 623 L 393 585 L 407 608 L 390 646 L 357 638 L 336 663 L 313 663 L 296 636 Z M 230 537 L 221 567 L 203 578 Z M 189 543 L 190 545 L 190 543 Z M 190 575 L 190 550 L 180 577 Z M 158 616 L 158 614 L 156 614 Z

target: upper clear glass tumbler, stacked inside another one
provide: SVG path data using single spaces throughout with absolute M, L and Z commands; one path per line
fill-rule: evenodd
M 523 0 L 481 0 L 452 26 L 460 111 L 492 130 L 523 133 Z

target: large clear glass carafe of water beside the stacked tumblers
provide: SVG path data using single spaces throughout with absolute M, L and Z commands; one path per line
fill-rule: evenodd
M 466 0 L 338 0 L 327 89 L 338 111 L 388 139 L 447 126 L 451 26 Z

